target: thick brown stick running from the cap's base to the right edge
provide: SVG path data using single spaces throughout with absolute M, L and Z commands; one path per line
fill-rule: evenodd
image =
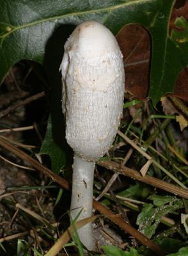
M 188 199 L 188 189 L 180 188 L 178 186 L 169 184 L 168 182 L 154 178 L 149 175 L 145 175 L 145 177 L 143 177 L 136 170 L 132 170 L 127 167 L 122 167 L 121 164 L 114 163 L 112 161 L 99 161 L 97 164 L 107 168 L 108 170 L 113 170 L 113 171 L 119 172 L 125 176 L 132 178 L 132 179 L 139 180 L 139 181 L 144 182 L 153 187 L 163 189 L 165 191 L 168 191 L 170 193 L 173 193 L 175 195 L 182 196 L 182 197 Z

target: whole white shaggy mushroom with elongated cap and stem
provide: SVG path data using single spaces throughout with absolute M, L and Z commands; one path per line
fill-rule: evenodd
M 71 214 L 92 214 L 95 161 L 111 147 L 123 108 L 124 67 L 114 35 L 89 20 L 77 26 L 65 43 L 61 63 L 63 113 L 67 142 L 74 150 Z M 78 231 L 93 250 L 91 223 Z

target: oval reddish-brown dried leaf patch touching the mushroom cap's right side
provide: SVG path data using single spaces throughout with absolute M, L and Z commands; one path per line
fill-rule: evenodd
M 117 36 L 125 63 L 125 90 L 139 99 L 148 95 L 150 35 L 139 24 L 129 24 Z

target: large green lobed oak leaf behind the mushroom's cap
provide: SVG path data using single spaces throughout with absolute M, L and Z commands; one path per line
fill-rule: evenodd
M 52 131 L 47 129 L 45 140 L 52 140 L 49 145 L 58 143 L 63 138 L 58 70 L 68 36 L 84 20 L 97 20 L 114 35 L 126 24 L 137 23 L 145 26 L 152 38 L 149 95 L 156 104 L 162 95 L 173 92 L 178 73 L 187 65 L 187 41 L 180 43 L 175 36 L 168 35 L 173 3 L 173 0 L 0 0 L 0 82 L 20 60 L 43 64 L 53 91 Z M 185 32 L 183 38 L 186 36 Z M 59 120 L 62 121 L 57 128 Z M 56 132 L 59 139 L 55 141 Z M 64 150 L 59 145 L 57 148 L 59 154 Z M 61 164 L 56 168 L 61 168 Z

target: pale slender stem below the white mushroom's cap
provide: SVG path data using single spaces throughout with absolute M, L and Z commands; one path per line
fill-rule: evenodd
M 72 198 L 70 212 L 74 220 L 79 214 L 77 220 L 91 217 L 93 209 L 93 176 L 95 162 L 87 162 L 75 154 L 72 175 Z M 79 228 L 77 233 L 82 244 L 88 250 L 94 250 L 92 225 L 88 223 Z

